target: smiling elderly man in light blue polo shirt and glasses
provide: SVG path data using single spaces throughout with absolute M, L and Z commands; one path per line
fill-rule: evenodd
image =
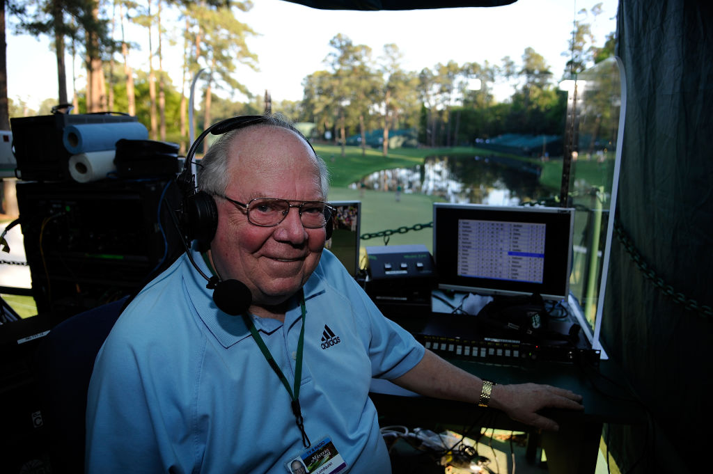
M 218 309 L 186 255 L 133 299 L 92 376 L 88 473 L 289 473 L 296 459 L 308 472 L 388 473 L 372 377 L 545 429 L 557 426 L 541 408 L 581 408 L 569 391 L 461 371 L 384 318 L 324 250 L 326 168 L 291 125 L 229 131 L 200 169 L 217 230 L 190 252 L 252 302 L 242 316 Z

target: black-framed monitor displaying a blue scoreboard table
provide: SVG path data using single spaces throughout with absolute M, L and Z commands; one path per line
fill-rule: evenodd
M 438 287 L 475 294 L 569 292 L 574 210 L 434 204 Z

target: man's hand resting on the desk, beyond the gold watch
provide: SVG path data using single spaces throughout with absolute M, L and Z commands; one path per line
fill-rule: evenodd
M 538 411 L 543 408 L 583 410 L 582 396 L 564 388 L 537 383 L 496 385 L 493 387 L 490 406 L 504 411 L 510 418 L 535 428 L 557 431 L 560 427 Z

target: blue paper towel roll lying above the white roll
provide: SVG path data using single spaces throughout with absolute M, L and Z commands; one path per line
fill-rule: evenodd
M 139 122 L 114 122 L 67 125 L 62 132 L 64 148 L 72 155 L 113 150 L 122 138 L 146 140 L 148 130 Z

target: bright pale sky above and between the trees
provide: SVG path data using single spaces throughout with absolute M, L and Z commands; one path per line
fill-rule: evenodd
M 272 101 L 299 101 L 303 79 L 326 68 L 329 40 L 340 33 L 354 44 L 370 46 L 374 59 L 381 56 L 385 44 L 396 43 L 404 56 L 401 66 L 407 71 L 421 71 L 448 61 L 501 64 L 504 56 L 520 63 L 529 46 L 544 56 L 555 78 L 559 78 L 568 59 L 563 52 L 568 48 L 576 12 L 602 4 L 602 14 L 596 19 L 591 15 L 576 16 L 592 25 L 595 43 L 602 46 L 605 36 L 616 29 L 618 0 L 518 0 L 491 8 L 415 11 L 326 11 L 282 0 L 253 3 L 253 8 L 241 12 L 238 19 L 259 34 L 248 38 L 247 45 L 257 54 L 260 71 L 241 65 L 235 78 L 256 95 L 269 90 Z M 173 35 L 179 33 L 174 31 Z M 134 41 L 140 41 L 141 36 L 147 36 L 148 41 L 145 30 L 130 34 Z M 178 46 L 164 49 L 164 68 L 178 87 L 183 52 Z M 9 98 L 25 101 L 36 109 L 44 99 L 57 96 L 56 58 L 48 38 L 17 36 L 8 28 L 6 51 Z M 133 68 L 148 71 L 144 56 L 145 51 L 132 53 Z M 67 64 L 71 97 L 71 58 Z M 76 71 L 81 74 L 78 88 L 83 88 L 81 63 L 77 63 Z M 205 87 L 198 81 L 197 88 L 201 86 Z M 507 95 L 496 88 L 496 96 L 498 93 Z M 230 91 L 220 95 L 243 100 Z

